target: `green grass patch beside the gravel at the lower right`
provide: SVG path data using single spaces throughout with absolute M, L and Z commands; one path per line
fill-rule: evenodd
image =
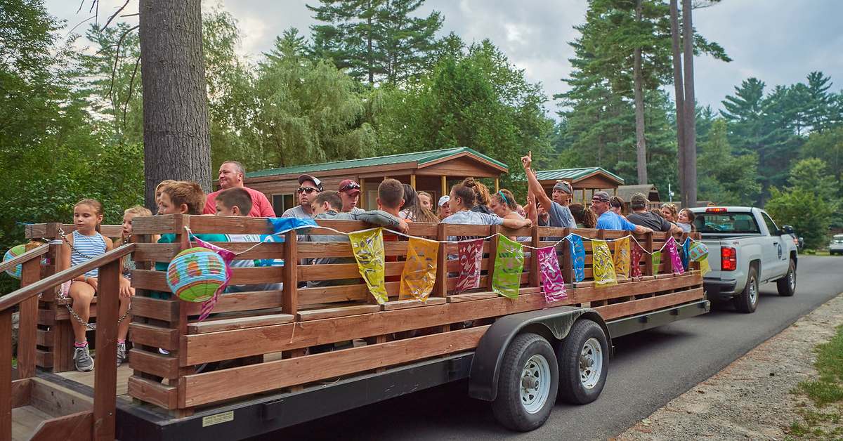
M 814 367 L 819 379 L 799 383 L 794 393 L 807 396 L 813 406 L 801 403 L 796 413 L 802 421 L 793 421 L 788 433 L 795 438 L 843 438 L 843 325 L 830 342 L 817 345 Z

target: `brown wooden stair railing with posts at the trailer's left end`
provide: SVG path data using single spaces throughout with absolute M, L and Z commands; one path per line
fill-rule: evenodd
M 4 397 L 0 399 L 0 439 L 12 438 L 13 406 L 22 406 L 22 403 L 29 401 L 29 397 L 17 396 L 28 393 L 28 389 L 16 387 L 16 383 L 26 382 L 35 374 L 35 315 L 38 294 L 54 289 L 63 282 L 81 276 L 94 268 L 99 268 L 99 317 L 96 330 L 98 351 L 97 363 L 94 367 L 94 409 L 90 412 L 92 416 L 90 430 L 94 439 L 115 438 L 120 262 L 123 256 L 129 255 L 134 249 L 134 244 L 122 245 L 95 259 L 41 280 L 38 280 L 40 258 L 49 250 L 47 245 L 27 251 L 0 265 L 0 269 L 5 270 L 19 263 L 23 264 L 22 288 L 0 297 L 0 396 Z M 19 379 L 13 381 L 12 308 L 17 304 L 20 305 Z

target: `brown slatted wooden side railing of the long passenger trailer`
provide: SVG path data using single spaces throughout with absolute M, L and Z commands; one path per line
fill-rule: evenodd
M 345 232 L 370 228 L 350 221 L 319 221 L 322 227 Z M 185 226 L 194 234 L 270 234 L 261 218 L 167 215 L 136 218 L 133 230 L 145 239 L 137 244 L 136 262 L 169 262 L 187 245 Z M 626 232 L 608 230 L 569 230 L 548 227 L 504 229 L 483 225 L 412 223 L 410 234 L 446 240 L 449 236 L 481 236 L 501 233 L 529 237 L 529 245 L 548 246 L 569 233 L 593 239 L 618 239 Z M 152 234 L 175 234 L 173 243 L 149 243 Z M 310 236 L 336 235 L 323 228 L 311 229 Z M 647 250 L 658 250 L 668 236 L 647 234 L 637 239 Z M 138 265 L 132 274 L 137 288 L 133 299 L 130 363 L 134 375 L 128 390 L 133 398 L 168 409 L 175 417 L 190 415 L 197 406 L 207 406 L 271 390 L 298 390 L 320 379 L 338 375 L 378 371 L 395 364 L 476 346 L 486 326 L 496 317 L 565 304 L 590 304 L 606 320 L 641 314 L 653 309 L 689 303 L 703 298 L 700 272 L 696 264 L 682 276 L 674 275 L 665 257 L 654 268 L 645 254 L 636 262 L 644 277 L 640 281 L 620 280 L 618 286 L 595 288 L 592 280 L 591 244 L 586 249 L 583 282 L 572 283 L 570 248 L 559 247 L 560 263 L 568 288 L 568 298 L 549 304 L 541 293 L 538 262 L 532 253 L 524 260 L 520 295 L 503 298 L 491 292 L 491 269 L 495 265 L 495 240 L 486 241 L 481 289 L 454 293 L 458 263 L 448 260 L 457 246 L 439 247 L 436 285 L 427 302 L 399 298 L 399 276 L 407 253 L 406 241 L 384 243 L 386 289 L 389 302 L 376 304 L 360 280 L 348 242 L 313 242 L 285 234 L 284 243 L 260 245 L 238 255 L 239 260 L 284 259 L 284 266 L 234 267 L 231 284 L 283 282 L 279 291 L 224 293 L 214 309 L 216 316 L 197 322 L 201 304 L 190 304 L 169 297 L 165 272 Z M 239 252 L 252 243 L 217 244 Z M 529 252 L 529 250 L 527 250 Z M 346 263 L 302 265 L 300 260 L 318 257 L 345 257 Z M 659 275 L 654 274 L 658 269 Z M 303 281 L 342 281 L 341 285 L 299 288 Z M 165 293 L 164 295 L 153 293 Z M 467 329 L 452 324 L 469 322 Z M 324 345 L 364 339 L 366 346 L 334 352 Z M 321 347 L 321 348 L 320 348 Z M 311 348 L 310 354 L 307 349 Z M 169 353 L 162 354 L 158 349 Z M 196 372 L 203 363 L 217 364 L 212 371 Z

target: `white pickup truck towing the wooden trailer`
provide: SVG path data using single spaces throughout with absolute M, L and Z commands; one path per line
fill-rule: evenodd
M 776 281 L 779 295 L 796 293 L 797 246 L 793 229 L 779 229 L 754 207 L 696 207 L 694 225 L 708 246 L 711 272 L 703 278 L 709 300 L 731 299 L 740 312 L 754 312 L 758 285 Z

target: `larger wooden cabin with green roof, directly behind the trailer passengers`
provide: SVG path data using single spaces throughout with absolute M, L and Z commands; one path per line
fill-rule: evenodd
M 303 174 L 319 178 L 325 190 L 337 190 L 342 180 L 355 180 L 361 190 L 358 206 L 372 209 L 376 205 L 378 185 L 385 178 L 400 180 L 416 191 L 427 191 L 436 202 L 448 194 L 451 185 L 467 177 L 494 180 L 497 191 L 498 178 L 507 172 L 507 165 L 497 159 L 458 147 L 253 171 L 246 174 L 245 185 L 266 194 L 276 215 L 281 216 L 288 208 L 298 205 L 295 192 L 298 176 Z

